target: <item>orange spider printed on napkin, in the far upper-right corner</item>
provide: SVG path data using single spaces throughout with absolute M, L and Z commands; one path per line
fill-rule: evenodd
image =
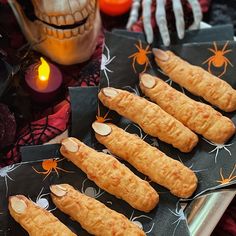
M 224 56 L 226 53 L 232 52 L 232 50 L 231 49 L 225 50 L 229 44 L 229 41 L 226 42 L 226 44 L 224 45 L 222 50 L 217 49 L 216 42 L 213 42 L 213 44 L 214 44 L 214 49 L 208 48 L 208 50 L 213 52 L 214 56 L 208 58 L 202 64 L 208 63 L 208 72 L 209 73 L 211 73 L 211 64 L 213 64 L 214 67 L 218 67 L 218 68 L 224 66 L 224 71 L 220 75 L 218 75 L 218 77 L 221 77 L 222 75 L 225 74 L 228 64 L 230 64 L 233 67 L 233 65 L 229 61 L 229 59 Z

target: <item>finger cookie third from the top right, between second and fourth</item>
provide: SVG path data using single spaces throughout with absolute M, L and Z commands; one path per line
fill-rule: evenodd
M 104 106 L 138 124 L 145 133 L 182 152 L 190 152 L 197 145 L 196 134 L 145 98 L 111 87 L 103 88 L 98 97 Z

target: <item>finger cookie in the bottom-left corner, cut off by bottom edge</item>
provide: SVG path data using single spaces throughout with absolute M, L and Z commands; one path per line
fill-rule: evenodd
M 23 195 L 9 197 L 11 216 L 30 236 L 76 236 L 52 213 L 40 208 Z

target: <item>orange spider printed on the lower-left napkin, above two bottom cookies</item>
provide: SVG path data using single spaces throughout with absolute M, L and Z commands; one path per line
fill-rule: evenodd
M 63 161 L 64 159 L 65 159 L 65 158 L 63 158 L 63 159 L 61 159 L 61 160 L 56 160 L 56 159 L 44 160 L 44 161 L 42 162 L 42 168 L 43 168 L 45 171 L 42 171 L 42 172 L 36 170 L 33 166 L 32 166 L 32 168 L 34 169 L 34 171 L 35 171 L 36 173 L 46 175 L 43 180 L 45 180 L 45 179 L 51 174 L 51 172 L 52 172 L 53 170 L 55 170 L 57 176 L 59 176 L 58 170 L 64 171 L 64 172 L 66 172 L 66 173 L 73 173 L 73 171 L 64 170 L 64 169 L 62 169 L 62 168 L 60 168 L 60 167 L 57 166 L 57 163 L 60 162 L 60 161 Z

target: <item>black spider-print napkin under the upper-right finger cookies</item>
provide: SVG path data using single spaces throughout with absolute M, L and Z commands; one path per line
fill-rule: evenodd
M 142 96 L 138 88 L 138 73 L 135 73 L 132 58 L 129 58 L 130 55 L 137 52 L 135 45 L 139 45 L 139 41 L 134 39 L 128 39 L 126 37 L 113 35 L 110 33 L 106 34 L 104 53 L 107 55 L 109 51 L 110 58 L 114 58 L 106 67 L 111 71 L 107 71 L 107 75 L 102 71 L 102 78 L 100 82 L 100 87 L 115 87 L 120 89 L 125 89 L 130 92 L 134 92 L 137 95 Z M 236 58 L 234 53 L 236 52 L 236 42 L 233 41 L 219 41 L 216 42 L 218 50 L 221 50 L 226 44 L 227 49 L 232 50 L 225 54 L 225 56 L 230 60 L 233 65 L 236 65 Z M 147 44 L 142 42 L 142 47 L 146 48 Z M 203 62 L 212 56 L 212 52 L 208 48 L 213 48 L 213 42 L 210 43 L 193 43 L 185 45 L 174 45 L 169 47 L 170 50 L 175 52 L 177 55 L 181 56 L 183 59 L 189 61 L 190 63 L 198 66 L 202 66 L 207 69 L 208 66 L 203 65 Z M 123 49 L 126 50 L 123 50 Z M 160 69 L 155 65 L 152 54 L 148 55 L 150 66 L 147 69 L 147 72 L 155 74 L 162 78 L 164 81 L 172 84 L 176 89 L 186 93 L 188 96 L 192 97 L 195 100 L 203 101 L 203 99 L 191 95 L 188 91 L 181 88 L 179 85 L 175 84 L 168 77 L 163 75 Z M 144 65 L 138 65 L 135 62 L 135 67 L 137 72 L 141 72 L 144 68 Z M 212 65 L 212 73 L 216 75 L 221 73 L 224 68 L 214 68 Z M 227 66 L 226 73 L 222 76 L 222 79 L 227 81 L 232 85 L 233 88 L 236 88 L 236 71 L 231 65 Z M 103 109 L 103 106 L 101 109 Z M 234 124 L 236 124 L 236 112 L 225 113 L 224 115 L 232 119 Z M 115 118 L 114 118 L 115 117 Z M 110 112 L 112 122 L 118 124 L 120 127 L 125 127 L 127 120 L 124 118 L 119 118 L 120 116 L 114 112 Z M 117 123 L 117 121 L 119 121 Z M 133 132 L 133 131 L 132 131 Z M 143 136 L 145 134 L 142 134 Z M 148 136 L 147 136 L 148 138 Z M 218 189 L 225 186 L 233 185 L 236 183 L 236 179 L 232 178 L 231 181 L 222 184 L 223 179 L 236 176 L 236 137 L 232 137 L 226 145 L 216 145 L 210 143 L 209 141 L 199 137 L 199 143 L 196 148 L 191 153 L 184 154 L 173 148 L 171 145 L 163 143 L 158 140 L 159 149 L 169 155 L 170 157 L 182 161 L 186 166 L 190 167 L 197 174 L 199 185 L 193 197 L 199 196 L 200 194 L 212 190 Z M 217 151 L 218 150 L 218 151 Z M 222 173 L 222 177 L 221 177 Z

